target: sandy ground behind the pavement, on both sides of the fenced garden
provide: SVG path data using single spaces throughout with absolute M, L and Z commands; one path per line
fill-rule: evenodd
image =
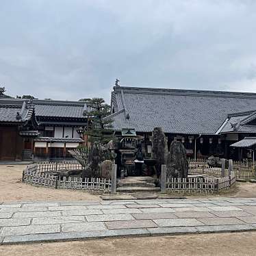
M 22 183 L 22 172 L 25 167 L 25 165 L 0 164 L 0 202 L 101 200 L 99 194 L 74 190 L 55 190 Z M 186 197 L 198 198 L 202 196 L 200 194 Z M 237 182 L 231 192 L 220 194 L 220 196 L 256 197 L 256 183 Z M 208 194 L 206 197 L 211 197 L 211 195 Z

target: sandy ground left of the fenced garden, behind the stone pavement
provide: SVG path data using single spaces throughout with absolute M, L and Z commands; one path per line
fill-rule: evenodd
M 22 172 L 25 167 L 0 165 L 0 202 L 100 200 L 98 194 L 40 188 L 22 183 Z

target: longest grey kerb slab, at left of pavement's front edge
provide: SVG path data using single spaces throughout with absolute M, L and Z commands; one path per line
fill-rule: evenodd
M 149 236 L 150 233 L 146 229 L 118 229 L 103 231 L 84 231 L 84 232 L 66 232 L 66 233 L 49 233 L 38 235 L 13 235 L 7 236 L 3 240 L 3 244 L 18 244 L 28 242 L 57 242 L 57 241 L 73 241 L 88 240 L 96 238 L 116 238 L 116 237 L 134 237 Z

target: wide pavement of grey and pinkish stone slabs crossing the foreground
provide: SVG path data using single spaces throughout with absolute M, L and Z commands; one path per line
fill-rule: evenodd
M 1 244 L 231 231 L 256 231 L 256 198 L 0 204 Z

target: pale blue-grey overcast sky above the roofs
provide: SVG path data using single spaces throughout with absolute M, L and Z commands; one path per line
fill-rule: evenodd
M 256 1 L 0 0 L 0 85 L 110 101 L 123 86 L 256 92 Z

